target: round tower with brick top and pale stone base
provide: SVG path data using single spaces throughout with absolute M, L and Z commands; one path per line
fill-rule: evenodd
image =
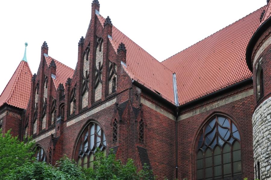
M 271 3 L 260 17 L 260 27 L 252 36 L 246 52 L 253 73 L 254 113 L 253 151 L 255 179 L 271 180 Z

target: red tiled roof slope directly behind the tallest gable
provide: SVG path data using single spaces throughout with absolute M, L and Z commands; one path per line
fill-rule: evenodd
M 96 15 L 104 26 L 105 19 L 101 15 Z M 152 57 L 148 52 L 129 39 L 115 26 L 112 27 L 112 40 L 109 39 L 117 53 L 120 43 L 126 47 L 126 70 L 131 79 L 139 82 L 145 87 L 174 103 L 173 93 L 173 72 Z

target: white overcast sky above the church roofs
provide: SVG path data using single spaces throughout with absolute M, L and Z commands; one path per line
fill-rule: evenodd
M 266 0 L 99 0 L 100 14 L 158 61 L 182 51 L 266 5 Z M 0 93 L 24 54 L 32 73 L 43 41 L 48 54 L 73 69 L 86 35 L 92 0 L 0 2 Z

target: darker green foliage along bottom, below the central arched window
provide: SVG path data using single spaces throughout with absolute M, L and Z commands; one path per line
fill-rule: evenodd
M 33 155 L 33 154 L 31 154 Z M 26 161 L 9 171 L 5 180 L 147 180 L 152 172 L 146 167 L 137 171 L 134 162 L 129 159 L 126 164 L 116 160 L 114 155 L 105 157 L 102 152 L 95 154 L 96 161 L 93 169 L 83 169 L 74 160 L 61 158 L 56 166 L 35 159 Z M 0 159 L 1 163 L 1 159 Z M 154 178 L 153 178 L 154 179 Z

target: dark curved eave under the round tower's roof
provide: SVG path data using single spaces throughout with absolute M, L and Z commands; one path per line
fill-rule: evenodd
M 255 44 L 257 43 L 258 39 L 260 38 L 260 36 L 266 31 L 266 29 L 268 29 L 271 25 L 271 17 L 269 17 L 266 21 L 264 21 L 260 27 L 256 30 L 256 32 L 253 34 L 252 38 L 250 39 L 249 43 L 248 43 L 248 47 L 246 50 L 246 63 L 248 65 L 248 69 L 253 73 L 253 68 L 251 66 L 251 55 L 252 55 L 252 51 L 253 48 L 255 46 Z

